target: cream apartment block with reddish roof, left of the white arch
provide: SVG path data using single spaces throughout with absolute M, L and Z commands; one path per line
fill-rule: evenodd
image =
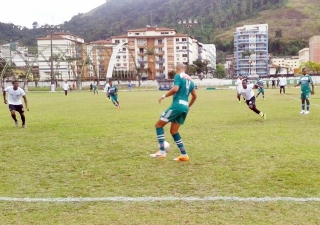
M 84 39 L 69 32 L 56 32 L 37 39 L 40 80 L 51 79 L 51 40 L 56 79 L 74 80 L 77 75 L 85 77 L 87 66 L 83 61 L 87 59 L 87 51 Z

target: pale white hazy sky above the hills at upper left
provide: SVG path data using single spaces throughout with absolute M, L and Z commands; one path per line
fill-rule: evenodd
M 61 24 L 78 13 L 86 13 L 105 3 L 106 0 L 6 0 L 1 4 L 0 22 L 32 27 Z

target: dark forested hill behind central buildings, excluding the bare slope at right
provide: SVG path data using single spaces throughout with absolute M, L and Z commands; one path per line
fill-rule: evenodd
M 213 41 L 216 28 L 229 27 L 258 12 L 284 4 L 285 0 L 108 0 L 86 14 L 74 16 L 64 27 L 91 41 L 146 25 L 182 31 L 179 20 L 198 19 L 199 26 L 192 35 L 208 43 Z

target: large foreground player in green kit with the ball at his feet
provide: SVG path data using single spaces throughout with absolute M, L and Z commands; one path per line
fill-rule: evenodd
M 170 133 L 178 146 L 181 155 L 175 158 L 175 161 L 189 161 L 186 149 L 184 148 L 182 139 L 179 134 L 179 128 L 184 123 L 189 108 L 193 105 L 197 98 L 194 82 L 191 77 L 185 73 L 185 65 L 178 63 L 176 66 L 176 75 L 174 76 L 174 86 L 169 92 L 159 98 L 159 103 L 167 97 L 173 96 L 171 106 L 164 111 L 160 119 L 155 124 L 157 139 L 159 142 L 160 149 L 154 154 L 150 154 L 152 158 L 165 158 L 166 151 L 164 149 L 164 126 L 171 122 Z M 188 102 L 189 95 L 191 94 L 191 101 Z

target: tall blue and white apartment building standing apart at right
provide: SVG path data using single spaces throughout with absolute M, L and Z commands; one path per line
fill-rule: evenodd
M 237 76 L 268 75 L 268 24 L 237 27 L 234 33 Z

